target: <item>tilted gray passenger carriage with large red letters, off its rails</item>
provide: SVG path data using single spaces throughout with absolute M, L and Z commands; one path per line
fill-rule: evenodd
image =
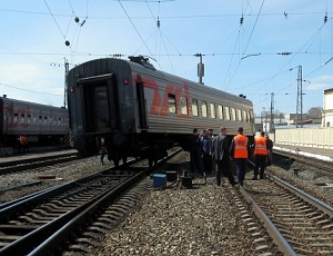
M 97 154 L 103 144 L 119 165 L 127 157 L 164 157 L 188 149 L 193 128 L 238 127 L 253 138 L 252 102 L 167 72 L 143 57 L 97 59 L 69 71 L 68 104 L 74 148 Z

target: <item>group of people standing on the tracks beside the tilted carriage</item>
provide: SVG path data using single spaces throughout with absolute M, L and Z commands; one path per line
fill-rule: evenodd
M 206 175 L 215 169 L 216 185 L 221 186 L 222 175 L 226 177 L 232 186 L 240 184 L 243 186 L 248 168 L 248 159 L 251 149 L 254 148 L 255 167 L 252 180 L 264 178 L 264 169 L 271 164 L 273 142 L 269 135 L 262 131 L 260 137 L 255 138 L 254 145 L 250 145 L 249 138 L 243 134 L 244 129 L 240 127 L 238 135 L 233 137 L 231 144 L 226 136 L 226 128 L 221 127 L 220 134 L 214 136 L 213 129 L 204 129 L 201 132 L 196 128 L 190 139 L 190 174 L 198 175 L 206 181 Z M 201 166 L 201 156 L 203 168 Z M 238 181 L 235 181 L 231 160 L 235 161 Z

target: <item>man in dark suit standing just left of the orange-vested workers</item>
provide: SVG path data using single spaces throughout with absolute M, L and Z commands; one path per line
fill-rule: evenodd
M 230 170 L 230 155 L 229 142 L 226 137 L 226 128 L 220 129 L 220 135 L 213 138 L 213 159 L 216 163 L 216 184 L 221 186 L 221 174 L 228 177 L 232 186 L 238 183 L 234 181 L 233 175 Z

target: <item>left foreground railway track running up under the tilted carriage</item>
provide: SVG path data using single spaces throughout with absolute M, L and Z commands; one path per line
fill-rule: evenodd
M 0 255 L 64 250 L 105 208 L 163 161 L 145 169 L 111 168 L 8 204 L 0 208 Z

